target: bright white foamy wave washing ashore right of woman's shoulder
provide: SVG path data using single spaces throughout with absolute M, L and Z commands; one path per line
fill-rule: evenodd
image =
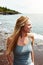
M 43 45 L 43 35 L 37 33 L 33 33 L 33 35 L 35 45 Z

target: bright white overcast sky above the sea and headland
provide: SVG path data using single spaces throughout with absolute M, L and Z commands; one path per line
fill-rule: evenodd
M 0 0 L 0 6 L 21 13 L 43 13 L 43 0 Z

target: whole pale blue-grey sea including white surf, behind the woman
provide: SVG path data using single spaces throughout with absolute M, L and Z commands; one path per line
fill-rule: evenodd
M 40 43 L 43 41 L 43 14 L 0 15 L 0 40 L 6 37 L 4 33 L 10 34 L 13 32 L 17 18 L 22 15 L 30 18 L 32 23 L 32 32 L 34 33 L 35 39 L 38 40 L 37 42 Z

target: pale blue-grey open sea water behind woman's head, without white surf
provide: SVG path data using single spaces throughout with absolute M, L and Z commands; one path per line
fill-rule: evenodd
M 43 14 L 17 14 L 0 15 L 0 31 L 11 31 L 14 28 L 16 19 L 21 15 L 28 16 L 32 23 L 32 32 L 43 34 Z

